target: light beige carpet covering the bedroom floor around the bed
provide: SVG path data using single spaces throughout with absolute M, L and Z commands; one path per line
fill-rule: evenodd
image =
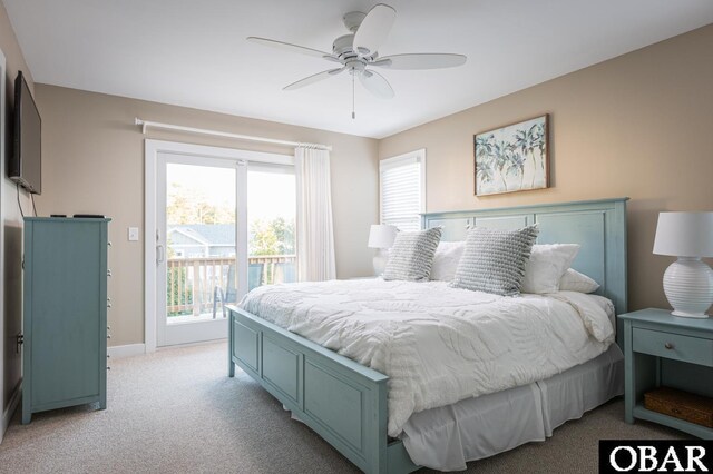
M 16 414 L 0 445 L 2 473 L 351 473 L 355 467 L 242 372 L 228 378 L 214 343 L 111 363 L 108 407 Z M 469 463 L 478 473 L 594 473 L 599 438 L 682 433 L 623 421 L 614 401 L 530 443 Z M 428 472 L 423 470 L 422 472 Z

